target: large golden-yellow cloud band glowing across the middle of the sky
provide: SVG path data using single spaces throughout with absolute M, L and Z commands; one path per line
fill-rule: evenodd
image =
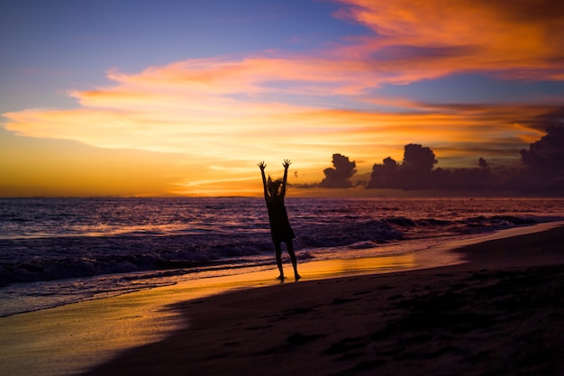
M 73 140 L 100 148 L 178 153 L 183 156 L 178 163 L 190 161 L 192 167 L 173 190 L 203 194 L 233 187 L 239 191 L 255 189 L 243 186 L 256 178 L 253 172 L 258 160 L 273 163 L 291 158 L 295 160 L 293 167 L 302 172 L 296 182 L 308 183 L 323 178 L 323 168 L 334 152 L 365 160 L 365 165 L 359 164 L 359 172 L 366 172 L 387 156 L 401 160 L 403 147 L 410 142 L 443 147 L 445 151 L 458 148 L 451 163 L 470 156 L 487 158 L 476 154 L 477 145 L 489 145 L 496 155 L 505 151 L 518 158 L 515 144 L 524 146 L 525 140 L 540 136 L 527 127 L 527 122 L 550 111 L 550 107 L 534 105 L 429 105 L 365 96 L 359 97 L 359 103 L 366 105 L 372 100 L 375 105 L 394 104 L 398 111 L 296 105 L 268 101 L 276 88 L 264 84 L 267 76 L 253 76 L 256 62 L 250 67 L 244 60 L 210 64 L 207 70 L 213 74 L 194 78 L 210 85 L 204 89 L 197 82 L 192 85 L 186 81 L 196 77 L 196 72 L 178 68 L 190 66 L 190 61 L 136 75 L 112 72 L 110 78 L 116 80 L 113 87 L 72 93 L 81 108 L 9 113 L 5 114 L 9 119 L 5 127 L 20 135 Z M 239 68 L 232 70 L 237 65 Z M 277 79 L 277 69 L 265 70 L 269 78 Z M 324 76 L 323 67 L 318 70 Z M 344 86 L 350 79 L 343 78 Z M 323 83 L 323 79 L 319 81 Z M 237 96 L 245 94 L 240 92 L 240 85 L 250 90 L 249 96 Z M 447 160 L 448 155 L 437 154 L 440 160 Z M 226 161 L 230 163 L 226 165 Z

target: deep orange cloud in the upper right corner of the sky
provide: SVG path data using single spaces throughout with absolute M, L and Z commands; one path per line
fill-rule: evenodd
M 557 79 L 564 5 L 555 1 L 338 0 L 336 16 L 366 25 L 374 36 L 339 53 L 372 60 L 408 83 L 459 71 L 505 78 Z

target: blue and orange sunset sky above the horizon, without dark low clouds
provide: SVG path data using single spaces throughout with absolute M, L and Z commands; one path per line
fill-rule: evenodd
M 564 122 L 561 1 L 0 6 L 0 197 L 259 196 L 285 159 L 289 194 L 323 196 L 335 154 L 355 174 L 331 194 L 378 195 L 405 145 L 532 167 Z

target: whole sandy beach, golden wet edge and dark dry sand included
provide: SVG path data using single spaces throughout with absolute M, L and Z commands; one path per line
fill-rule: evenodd
M 451 260 L 441 267 L 404 260 L 405 271 L 312 278 L 310 262 L 298 283 L 262 271 L 228 289 L 203 282 L 199 295 L 151 289 L 3 317 L 1 360 L 6 374 L 29 374 L 26 355 L 42 374 L 562 374 L 564 227 L 483 240 L 441 250 Z M 85 327 L 99 335 L 33 347 L 23 330 L 71 322 L 77 336 Z M 54 356 L 57 346 L 67 353 Z

